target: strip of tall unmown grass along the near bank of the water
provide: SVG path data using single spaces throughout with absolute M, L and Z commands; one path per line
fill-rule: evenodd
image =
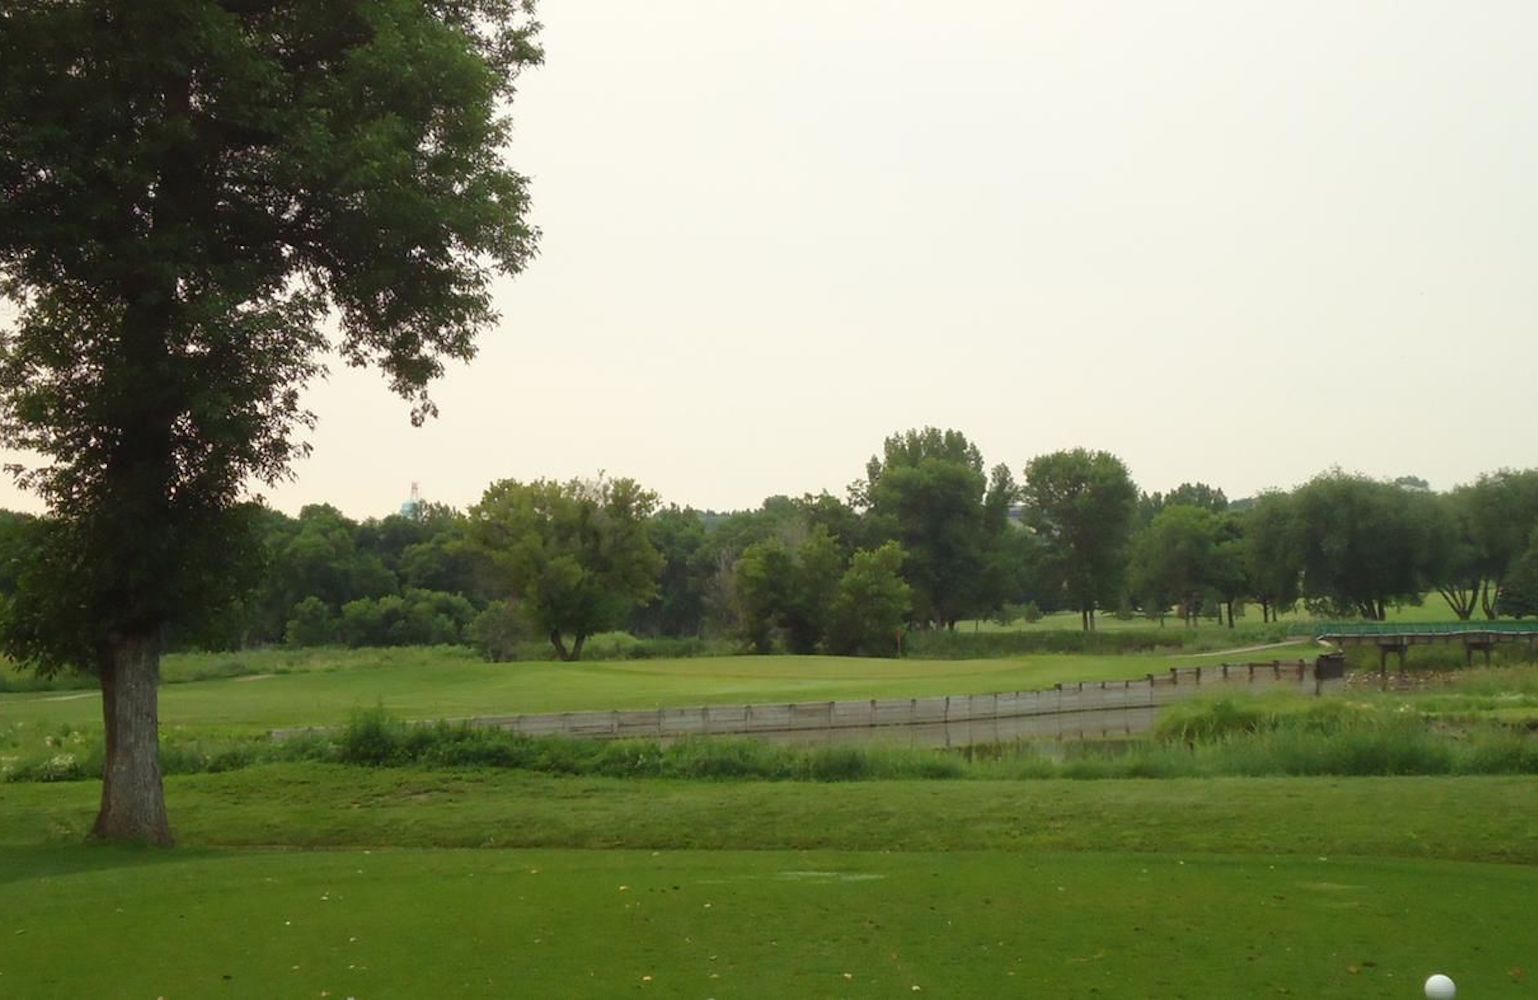
M 1392 703 L 1230 700 L 1170 709 L 1152 737 L 1123 743 L 1009 743 L 950 749 L 795 748 L 746 738 L 571 740 L 464 723 L 406 723 L 384 709 L 352 715 L 335 735 L 180 738 L 161 745 L 166 774 L 274 762 L 365 768 L 506 768 L 557 775 L 691 780 L 866 782 L 1280 775 L 1538 774 L 1538 737 L 1490 722 L 1449 725 Z M 68 782 L 102 772 L 98 737 L 65 728 L 25 758 L 0 755 L 9 782 Z

